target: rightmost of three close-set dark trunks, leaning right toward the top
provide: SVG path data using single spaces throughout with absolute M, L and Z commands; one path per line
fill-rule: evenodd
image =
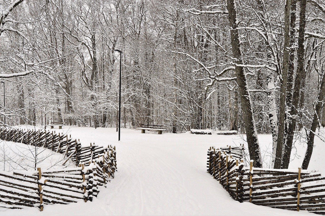
M 301 4 L 303 3 L 301 2 Z M 298 117 L 298 104 L 299 104 L 299 95 L 301 89 L 301 80 L 305 70 L 305 24 L 306 24 L 305 13 L 306 13 L 306 5 L 300 9 L 299 37 L 298 37 L 298 50 L 297 50 L 298 66 L 297 66 L 296 79 L 294 80 L 292 107 L 290 111 L 290 121 L 288 127 L 287 142 L 283 147 L 283 153 L 282 153 L 281 168 L 283 169 L 288 169 L 289 162 L 290 162 L 294 129 L 296 127 L 296 119 Z

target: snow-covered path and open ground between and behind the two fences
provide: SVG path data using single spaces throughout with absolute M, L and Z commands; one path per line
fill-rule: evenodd
M 93 202 L 46 205 L 43 212 L 37 208 L 6 210 L 0 215 L 311 215 L 234 201 L 206 172 L 209 146 L 239 146 L 244 143 L 242 135 L 158 135 L 122 129 L 118 142 L 113 128 L 66 126 L 62 130 L 84 144 L 116 145 L 115 178 Z M 271 135 L 259 135 L 259 140 L 262 154 L 268 156 L 264 152 L 271 151 Z M 317 139 L 315 145 L 309 168 L 324 175 L 324 143 Z M 304 155 L 302 145 L 295 147 L 301 158 L 292 161 L 292 169 Z

